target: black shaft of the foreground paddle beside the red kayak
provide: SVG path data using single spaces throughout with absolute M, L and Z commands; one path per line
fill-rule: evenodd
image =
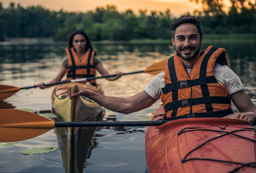
M 55 127 L 159 126 L 169 121 L 55 122 Z

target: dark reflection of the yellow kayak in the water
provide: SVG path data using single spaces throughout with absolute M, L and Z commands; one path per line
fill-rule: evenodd
M 104 112 L 94 116 L 91 121 L 102 121 Z M 55 119 L 54 121 L 59 121 Z M 86 160 L 92 149 L 97 146 L 95 131 L 97 127 L 67 127 L 55 128 L 58 146 L 61 150 L 65 172 L 83 172 Z

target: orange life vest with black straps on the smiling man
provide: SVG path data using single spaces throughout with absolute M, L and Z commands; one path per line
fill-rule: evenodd
M 223 117 L 233 114 L 225 85 L 214 77 L 214 64 L 228 65 L 224 48 L 208 47 L 188 75 L 177 54 L 166 61 L 160 96 L 169 120 L 195 117 Z

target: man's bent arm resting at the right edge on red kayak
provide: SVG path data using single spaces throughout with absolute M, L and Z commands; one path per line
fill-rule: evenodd
M 235 104 L 237 110 L 240 111 L 237 115 L 228 115 L 224 118 L 239 118 L 255 123 L 256 119 L 256 107 L 251 101 L 250 97 L 246 94 L 244 90 L 233 93 L 231 99 Z

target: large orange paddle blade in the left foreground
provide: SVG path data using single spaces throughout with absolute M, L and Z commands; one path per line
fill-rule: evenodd
M 54 121 L 32 112 L 0 109 L 0 142 L 27 140 L 54 127 Z

